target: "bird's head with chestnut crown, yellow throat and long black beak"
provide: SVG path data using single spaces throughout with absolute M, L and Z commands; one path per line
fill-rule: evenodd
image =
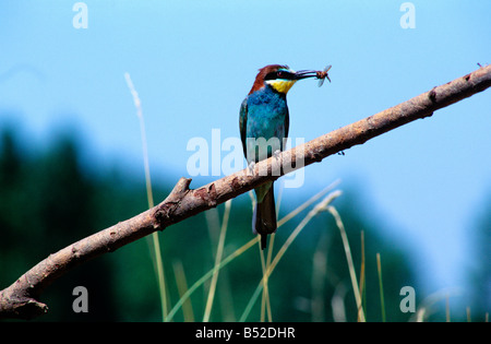
M 294 71 L 288 66 L 268 64 L 260 69 L 249 94 L 267 85 L 278 93 L 287 94 L 291 86 L 301 79 L 318 76 L 316 71 Z

